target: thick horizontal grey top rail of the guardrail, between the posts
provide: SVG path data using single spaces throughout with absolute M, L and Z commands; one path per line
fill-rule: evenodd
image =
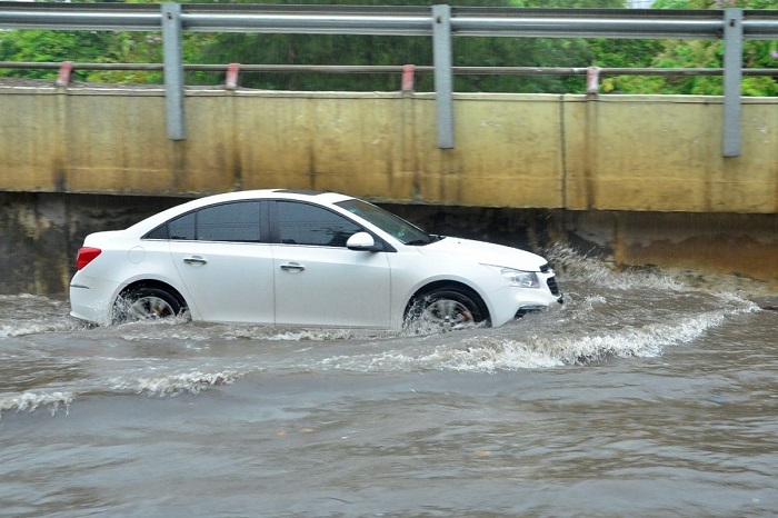
M 724 10 L 451 8 L 452 36 L 719 39 Z M 427 7 L 181 4 L 201 32 L 431 36 Z M 0 2 L 0 29 L 159 31 L 153 3 Z M 778 10 L 745 10 L 746 39 L 778 39 Z

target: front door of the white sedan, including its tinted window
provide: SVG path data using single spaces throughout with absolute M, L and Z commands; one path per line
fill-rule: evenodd
M 276 201 L 271 208 L 276 322 L 288 326 L 390 325 L 390 270 L 386 252 L 346 248 L 362 228 L 327 208 Z

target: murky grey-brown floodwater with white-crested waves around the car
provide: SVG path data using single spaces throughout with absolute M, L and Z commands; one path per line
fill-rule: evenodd
M 774 515 L 775 293 L 552 259 L 562 309 L 429 336 L 0 297 L 0 515 Z

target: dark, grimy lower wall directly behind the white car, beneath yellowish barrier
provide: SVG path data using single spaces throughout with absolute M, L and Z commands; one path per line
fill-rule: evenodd
M 126 228 L 188 198 L 0 193 L 0 295 L 67 292 L 76 252 L 94 231 Z M 618 266 L 671 267 L 757 279 L 778 290 L 775 215 L 566 211 L 391 205 L 443 235 L 542 251 L 565 243 Z M 561 273 L 563 276 L 563 272 Z

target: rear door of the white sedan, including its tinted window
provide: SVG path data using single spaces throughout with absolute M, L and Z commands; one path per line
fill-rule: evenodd
M 259 201 L 207 207 L 168 223 L 173 263 L 201 318 L 273 323 L 273 260 Z

